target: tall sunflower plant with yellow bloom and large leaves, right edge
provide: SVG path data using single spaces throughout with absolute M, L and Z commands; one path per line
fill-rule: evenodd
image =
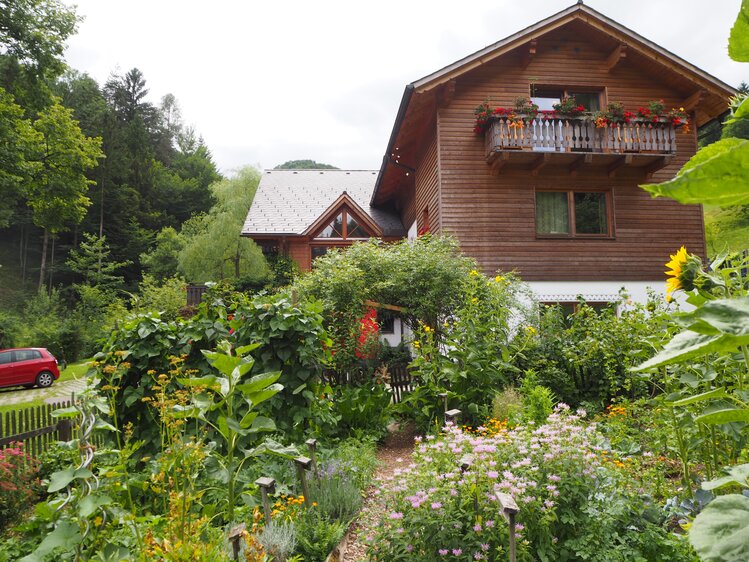
M 742 0 L 731 30 L 728 51 L 734 60 L 749 62 L 749 0 Z M 749 119 L 749 96 L 744 96 L 731 121 Z M 667 196 L 682 203 L 740 205 L 749 203 L 749 141 L 722 139 L 701 149 L 677 174 L 663 184 L 646 185 L 656 196 Z M 720 261 L 720 259 L 718 260 Z M 674 281 L 671 289 L 690 292 L 693 312 L 678 318 L 684 330 L 677 334 L 653 359 L 640 369 L 684 364 L 709 354 L 731 357 L 741 365 L 733 384 L 723 385 L 682 399 L 675 406 L 708 404 L 695 420 L 708 427 L 738 423 L 749 427 L 749 296 L 743 270 L 727 276 L 705 272 L 686 250 L 672 256 L 668 264 Z M 746 265 L 746 264 L 744 264 Z M 714 268 L 715 269 L 715 268 Z M 746 485 L 744 474 L 741 485 Z M 708 506 L 691 528 L 690 541 L 707 560 L 749 559 L 746 521 L 749 502 L 739 494 L 722 496 Z M 743 539 L 741 537 L 744 537 Z

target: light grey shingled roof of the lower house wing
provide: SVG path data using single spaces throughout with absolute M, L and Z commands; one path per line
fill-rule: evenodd
M 242 236 L 302 235 L 346 192 L 377 223 L 383 236 L 405 236 L 395 213 L 371 207 L 376 170 L 266 170 Z

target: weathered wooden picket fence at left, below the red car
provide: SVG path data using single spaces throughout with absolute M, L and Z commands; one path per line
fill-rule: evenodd
M 23 442 L 32 457 L 43 453 L 55 441 L 70 441 L 77 419 L 57 419 L 52 412 L 73 405 L 73 397 L 56 404 L 19 408 L 0 414 L 0 449 Z

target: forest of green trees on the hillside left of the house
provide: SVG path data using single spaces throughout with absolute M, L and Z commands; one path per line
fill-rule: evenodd
M 0 2 L 0 347 L 68 358 L 127 310 L 176 314 L 186 282 L 273 283 L 239 232 L 260 174 L 222 177 L 137 68 L 68 67 L 60 0 Z

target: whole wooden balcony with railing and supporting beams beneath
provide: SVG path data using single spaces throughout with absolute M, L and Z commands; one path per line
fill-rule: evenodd
M 597 127 L 590 118 L 499 117 L 485 133 L 486 161 L 537 173 L 546 165 L 600 167 L 610 176 L 624 166 L 646 174 L 663 168 L 676 153 L 671 122 L 632 121 Z

